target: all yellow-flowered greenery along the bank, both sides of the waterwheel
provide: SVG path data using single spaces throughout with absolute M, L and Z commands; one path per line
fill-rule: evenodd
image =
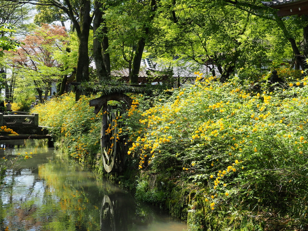
M 128 135 L 121 175 L 136 198 L 187 220 L 191 230 L 308 229 L 306 78 L 249 91 L 236 77 L 155 94 L 133 94 L 117 124 Z M 72 158 L 103 174 L 101 116 L 90 99 L 53 99 L 33 111 Z M 59 105 L 66 105 L 59 107 Z M 48 113 L 47 113 L 48 111 Z

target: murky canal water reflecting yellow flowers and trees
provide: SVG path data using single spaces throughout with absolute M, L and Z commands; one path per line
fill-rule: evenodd
M 182 231 L 185 222 L 132 195 L 38 140 L 2 143 L 0 158 L 32 152 L 1 191 L 0 230 Z

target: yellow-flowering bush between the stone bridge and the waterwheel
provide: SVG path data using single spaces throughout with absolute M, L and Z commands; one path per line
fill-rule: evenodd
M 45 104 L 35 106 L 31 113 L 39 113 L 39 124 L 49 127 L 73 158 L 88 162 L 100 151 L 99 136 L 102 113 L 93 114 L 89 100 L 99 96 L 82 96 L 75 103 L 73 93 L 53 98 Z M 92 154 L 89 155 L 89 154 Z

